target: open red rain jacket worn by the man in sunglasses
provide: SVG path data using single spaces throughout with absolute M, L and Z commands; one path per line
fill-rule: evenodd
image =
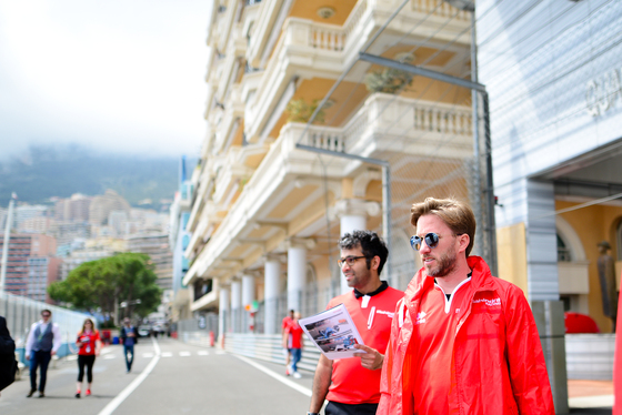
M 554 415 L 542 345 L 524 294 L 518 286 L 493 277 L 481 257 L 470 256 L 468 262 L 473 273 L 460 305 L 464 313 L 458 323 L 452 367 L 439 367 L 451 370 L 449 407 L 434 413 Z M 410 367 L 403 367 L 403 360 L 422 293 L 433 285 L 434 279 L 427 277 L 421 269 L 398 303 L 377 415 L 403 414 L 402 376 L 417 376 Z

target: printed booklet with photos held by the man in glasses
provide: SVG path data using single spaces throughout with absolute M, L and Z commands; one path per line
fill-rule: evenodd
M 331 361 L 354 357 L 354 353 L 365 353 L 354 348 L 355 344 L 363 344 L 363 338 L 343 304 L 298 322 L 315 347 Z

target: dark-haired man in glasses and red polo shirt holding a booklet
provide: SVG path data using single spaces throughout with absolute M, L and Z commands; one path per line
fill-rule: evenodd
M 330 361 L 320 356 L 308 414 L 319 414 L 328 399 L 327 415 L 373 415 L 380 401 L 380 370 L 391 320 L 403 293 L 380 281 L 389 251 L 374 232 L 347 233 L 339 247 L 339 265 L 353 290 L 332 298 L 327 308 L 344 304 L 364 345 L 354 346 L 361 350 L 358 357 Z

